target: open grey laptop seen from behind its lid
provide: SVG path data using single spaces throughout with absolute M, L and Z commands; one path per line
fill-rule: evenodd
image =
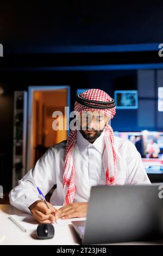
M 86 221 L 72 225 L 83 244 L 163 239 L 162 197 L 160 184 L 92 187 Z

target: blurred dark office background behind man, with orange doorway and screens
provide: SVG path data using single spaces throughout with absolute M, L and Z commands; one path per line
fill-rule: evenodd
M 4 199 L 48 147 L 54 111 L 99 88 L 116 100 L 115 135 L 132 141 L 163 181 L 163 2 L 0 3 L 0 185 Z

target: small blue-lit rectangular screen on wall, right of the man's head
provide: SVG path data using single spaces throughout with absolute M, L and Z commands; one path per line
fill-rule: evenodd
M 115 90 L 115 105 L 117 109 L 137 109 L 137 90 Z

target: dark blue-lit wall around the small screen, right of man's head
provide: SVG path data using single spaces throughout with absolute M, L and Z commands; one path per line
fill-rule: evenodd
M 128 70 L 97 72 L 90 75 L 91 88 L 105 90 L 138 90 L 137 109 L 116 109 L 111 120 L 114 131 L 163 131 L 163 112 L 158 112 L 158 87 L 163 86 L 162 70 Z

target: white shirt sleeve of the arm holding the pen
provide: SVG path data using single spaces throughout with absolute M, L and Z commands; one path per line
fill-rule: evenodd
M 56 184 L 54 153 L 49 148 L 36 162 L 35 167 L 18 181 L 18 186 L 10 191 L 10 204 L 18 210 L 31 213 L 28 209 L 36 200 L 40 200 L 37 187 L 46 195 Z

